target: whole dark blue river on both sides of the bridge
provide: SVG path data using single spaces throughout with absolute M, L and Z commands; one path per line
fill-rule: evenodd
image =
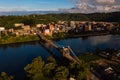
M 69 45 L 79 55 L 84 52 L 94 52 L 96 48 L 120 49 L 120 35 L 69 38 L 54 41 L 54 43 L 61 46 Z M 41 56 L 44 61 L 51 56 L 39 41 L 0 45 L 0 72 L 7 72 L 15 75 L 17 80 L 23 80 L 24 67 L 38 56 Z

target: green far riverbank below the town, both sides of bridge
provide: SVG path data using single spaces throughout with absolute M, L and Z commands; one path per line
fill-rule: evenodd
M 53 36 L 46 35 L 46 38 L 49 40 L 59 40 L 65 38 L 77 38 L 77 37 L 89 37 L 89 36 L 101 36 L 109 35 L 109 32 L 96 32 L 96 33 L 85 33 L 85 34 L 68 34 L 68 33 L 54 33 Z M 5 36 L 0 39 L 0 44 L 11 44 L 11 43 L 20 43 L 20 42 L 30 42 L 38 41 L 39 38 L 37 35 L 29 36 Z

